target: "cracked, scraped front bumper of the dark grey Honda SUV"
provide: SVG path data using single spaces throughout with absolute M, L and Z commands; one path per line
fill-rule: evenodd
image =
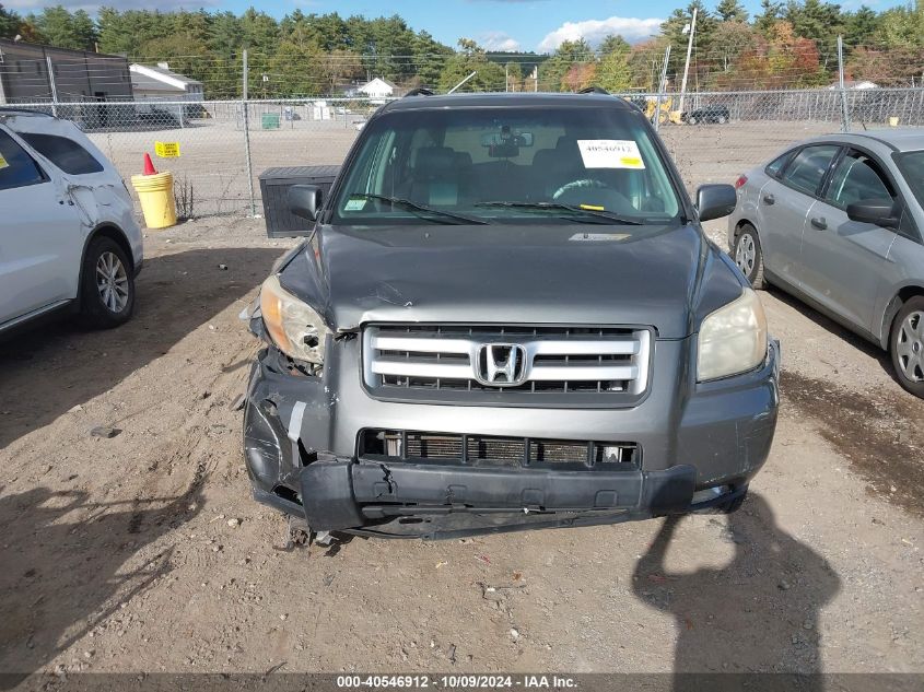
M 441 538 L 612 524 L 728 506 L 764 464 L 776 423 L 779 344 L 762 367 L 728 380 L 662 387 L 628 410 L 449 407 L 373 399 L 360 383 L 359 344 L 328 352 L 324 377 L 286 370 L 273 348 L 254 365 L 244 446 L 255 499 L 313 530 Z M 660 347 L 682 363 L 682 342 Z M 682 366 L 664 377 L 682 379 Z M 687 396 L 681 394 L 688 391 Z M 620 464 L 489 465 L 369 454 L 370 430 L 441 431 L 632 441 Z M 406 435 L 408 433 L 405 433 Z M 463 442 L 463 449 L 465 442 Z

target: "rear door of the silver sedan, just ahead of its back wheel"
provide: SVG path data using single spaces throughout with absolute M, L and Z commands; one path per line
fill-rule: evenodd
M 811 144 L 788 159 L 761 187 L 758 226 L 767 269 L 791 285 L 800 285 L 799 261 L 806 219 L 839 144 Z

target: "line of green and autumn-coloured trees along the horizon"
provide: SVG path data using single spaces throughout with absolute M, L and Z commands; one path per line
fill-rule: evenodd
M 405 87 L 446 90 L 471 72 L 476 77 L 468 90 L 597 85 L 628 92 L 657 87 L 668 46 L 668 87 L 677 87 L 694 9 L 690 89 L 824 85 L 837 75 L 838 35 L 846 46 L 847 78 L 924 84 L 924 0 L 882 12 L 866 5 L 845 11 L 823 0 L 762 0 L 755 16 L 739 0 L 720 0 L 713 9 L 693 0 L 643 43 L 632 45 L 617 35 L 597 46 L 564 42 L 550 56 L 492 54 L 471 38 L 446 46 L 399 15 L 342 17 L 295 10 L 277 20 L 254 8 L 239 15 L 103 8 L 92 17 L 60 5 L 21 16 L 0 5 L 0 37 L 126 55 L 140 62 L 166 60 L 172 69 L 202 81 L 212 98 L 239 95 L 244 49 L 254 96 L 337 94 L 372 77 Z

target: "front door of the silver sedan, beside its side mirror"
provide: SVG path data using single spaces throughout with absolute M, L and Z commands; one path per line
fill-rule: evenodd
M 803 291 L 865 331 L 874 331 L 879 289 L 893 269 L 889 248 L 896 233 L 851 221 L 846 208 L 873 199 L 894 201 L 896 191 L 873 155 L 847 149 L 812 207 L 803 238 Z

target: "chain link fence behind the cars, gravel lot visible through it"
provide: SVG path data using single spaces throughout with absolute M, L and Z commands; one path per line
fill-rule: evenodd
M 623 93 L 652 119 L 692 190 L 732 181 L 787 144 L 816 134 L 924 127 L 924 87 Z M 195 218 L 261 214 L 259 175 L 276 166 L 340 164 L 384 102 L 367 98 L 32 103 L 73 120 L 126 180 L 157 142 L 174 175 L 177 211 Z

